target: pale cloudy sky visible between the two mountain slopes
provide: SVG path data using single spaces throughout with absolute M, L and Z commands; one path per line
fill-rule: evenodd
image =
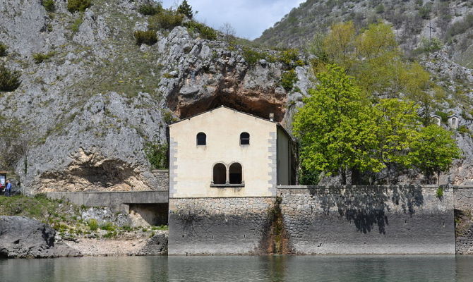
M 305 0 L 187 0 L 196 19 L 217 30 L 229 23 L 236 30 L 236 36 L 246 39 L 259 37 L 272 27 L 292 8 Z M 163 0 L 164 8 L 179 5 L 180 0 Z

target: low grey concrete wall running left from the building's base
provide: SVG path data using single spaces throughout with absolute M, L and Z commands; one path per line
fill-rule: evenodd
M 148 190 L 135 192 L 47 192 L 49 199 L 68 200 L 78 206 L 109 207 L 113 212 L 128 213 L 129 204 L 164 204 L 169 191 Z

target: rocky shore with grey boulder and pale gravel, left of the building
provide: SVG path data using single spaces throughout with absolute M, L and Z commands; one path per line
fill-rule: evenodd
M 166 255 L 167 231 L 128 233 L 113 239 L 62 238 L 49 225 L 25 216 L 0 216 L 0 257 L 52 258 Z

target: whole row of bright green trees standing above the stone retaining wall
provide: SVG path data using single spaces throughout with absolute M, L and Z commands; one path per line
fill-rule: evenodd
M 448 170 L 460 157 L 453 134 L 438 125 L 421 126 L 413 102 L 391 98 L 372 106 L 357 80 L 338 66 L 326 66 L 318 80 L 294 116 L 304 171 L 340 174 L 345 185 L 347 171 L 352 184 L 361 184 L 363 175 L 386 169 L 390 183 L 393 168 L 419 168 L 431 183 L 433 173 Z

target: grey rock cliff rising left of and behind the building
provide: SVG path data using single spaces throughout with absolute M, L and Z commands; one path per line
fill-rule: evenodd
M 181 26 L 138 46 L 145 3 L 96 0 L 70 13 L 66 1 L 51 12 L 38 0 L 0 0 L 0 64 L 21 74 L 18 89 L 0 92 L 0 112 L 29 141 L 16 166 L 28 192 L 165 189 L 147 148 L 166 144 L 168 123 L 221 104 L 284 119 L 294 98 L 280 87 L 282 63 L 250 66 L 241 47 Z M 297 73 L 306 92 L 309 68 Z

